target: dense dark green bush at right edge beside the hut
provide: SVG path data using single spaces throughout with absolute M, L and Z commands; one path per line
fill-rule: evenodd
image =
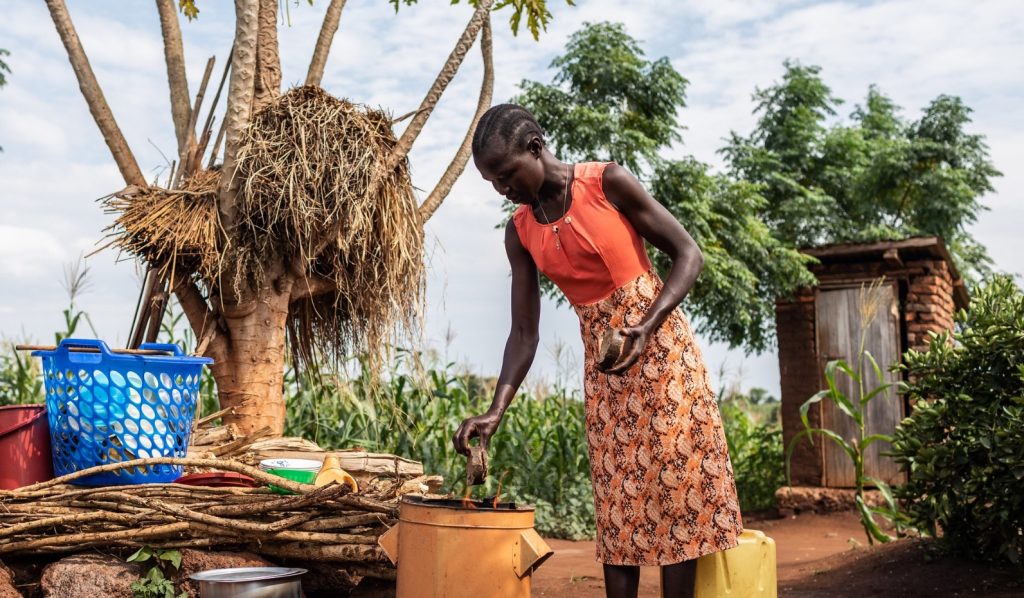
M 915 400 L 893 441 L 912 524 L 953 552 L 1024 562 L 1024 295 L 1009 277 L 979 289 L 957 332 L 908 351 Z

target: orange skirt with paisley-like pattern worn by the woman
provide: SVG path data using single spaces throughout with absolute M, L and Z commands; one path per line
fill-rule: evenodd
M 624 375 L 597 369 L 604 331 L 639 324 L 660 289 L 646 272 L 606 299 L 573 305 L 604 564 L 675 564 L 732 548 L 742 531 L 718 402 L 683 313 L 672 312 Z

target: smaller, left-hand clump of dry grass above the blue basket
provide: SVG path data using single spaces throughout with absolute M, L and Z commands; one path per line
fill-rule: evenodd
M 220 267 L 217 178 L 201 170 L 180 188 L 130 186 L 103 199 L 119 216 L 106 228 L 112 244 L 141 257 L 162 276 L 177 271 L 211 281 Z

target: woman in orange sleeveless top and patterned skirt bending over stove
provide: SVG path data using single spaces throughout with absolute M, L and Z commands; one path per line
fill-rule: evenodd
M 473 137 L 484 180 L 519 204 L 505 229 L 512 331 L 490 409 L 454 438 L 486 445 L 537 352 L 538 270 L 565 294 L 585 347 L 587 442 L 597 560 L 609 597 L 636 596 L 640 565 L 659 565 L 665 596 L 692 596 L 695 559 L 732 548 L 742 530 L 718 404 L 689 324 L 676 307 L 702 256 L 693 239 L 626 169 L 569 165 L 545 146 L 532 115 L 492 108 Z M 644 240 L 672 258 L 663 284 Z M 626 337 L 602 370 L 609 328 Z

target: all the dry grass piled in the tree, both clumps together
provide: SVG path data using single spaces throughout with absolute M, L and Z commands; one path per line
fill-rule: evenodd
M 385 113 L 315 86 L 292 89 L 253 116 L 239 147 L 230 239 L 219 226 L 217 173 L 201 171 L 180 190 L 129 187 L 108 199 L 121 213 L 114 243 L 165 275 L 198 275 L 211 296 L 252 296 L 239 291 L 265 288 L 268 272 L 303 270 L 321 292 L 289 307 L 293 351 L 306 361 L 379 357 L 392 332 L 416 330 L 424 287 L 408 163 L 384 171 L 395 143 Z

